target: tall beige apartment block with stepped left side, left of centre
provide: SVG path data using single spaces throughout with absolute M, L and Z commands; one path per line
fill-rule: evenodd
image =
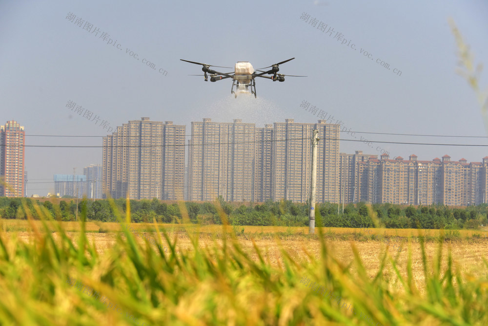
M 183 199 L 185 126 L 129 121 L 103 137 L 102 187 L 114 198 Z

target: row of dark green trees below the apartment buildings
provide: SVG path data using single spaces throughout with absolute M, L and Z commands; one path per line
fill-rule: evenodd
M 180 223 L 182 214 L 178 204 L 167 204 L 154 198 L 129 201 L 130 215 L 133 222 Z M 263 204 L 235 204 L 225 202 L 222 197 L 217 204 L 211 202 L 185 202 L 188 217 L 192 223 L 222 224 L 220 212 L 225 213 L 232 225 L 276 225 L 307 226 L 308 206 L 292 203 L 290 200 L 274 202 L 267 200 Z M 78 211 L 77 211 L 78 207 Z M 41 213 L 41 210 L 44 213 Z M 77 204 L 72 200 L 55 199 L 41 202 L 31 198 L 0 198 L 0 217 L 27 218 L 27 214 L 39 218 L 39 214 L 49 214 L 60 220 L 75 220 L 78 215 L 89 220 L 116 222 L 117 214 L 125 215 L 125 199 L 113 201 L 81 200 Z M 422 229 L 462 229 L 478 228 L 487 225 L 488 205 L 449 208 L 445 205 L 400 206 L 393 204 L 365 203 L 348 204 L 344 212 L 338 211 L 337 204 L 324 203 L 316 206 L 316 226 L 326 227 L 373 227 L 373 217 L 387 228 L 422 228 Z

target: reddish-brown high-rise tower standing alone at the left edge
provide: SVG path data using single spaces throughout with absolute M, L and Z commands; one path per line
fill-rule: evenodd
M 0 196 L 24 196 L 25 131 L 16 121 L 0 126 Z

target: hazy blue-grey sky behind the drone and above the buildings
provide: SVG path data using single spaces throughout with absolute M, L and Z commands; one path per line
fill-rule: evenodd
M 333 28 L 333 35 L 301 20 L 304 12 Z M 68 13 L 83 25 L 93 24 L 99 34 L 67 20 Z M 476 95 L 455 72 L 457 49 L 448 17 L 475 62 L 488 64 L 488 2 L 483 0 L 2 1 L 0 123 L 20 122 L 27 145 L 100 146 L 108 124 L 141 117 L 186 125 L 187 134 L 190 122 L 203 118 L 239 118 L 257 127 L 286 118 L 316 122 L 316 115 L 300 108 L 307 101 L 355 131 L 487 136 Z M 334 39 L 337 32 L 355 49 Z M 201 67 L 180 61 L 231 67 L 249 61 L 260 68 L 292 57 L 280 65 L 280 73 L 308 77 L 284 83 L 258 79 L 257 99 L 234 99 L 229 80 L 210 83 L 188 76 L 202 73 Z M 481 76 L 486 89 L 487 72 Z M 93 121 L 66 108 L 68 101 L 91 111 Z M 487 143 L 486 138 L 355 135 L 342 133 L 341 139 Z M 390 157 L 415 153 L 430 160 L 448 154 L 468 162 L 488 155 L 486 147 L 372 146 L 341 141 L 340 152 L 381 154 L 379 146 Z M 102 163 L 100 148 L 27 147 L 25 155 L 29 196 L 52 192 L 53 174 L 71 174 L 74 167 L 81 174 L 84 166 Z

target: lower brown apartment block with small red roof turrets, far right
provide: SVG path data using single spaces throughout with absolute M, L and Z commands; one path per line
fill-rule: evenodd
M 420 161 L 414 154 L 408 160 L 383 154 L 380 160 L 370 157 L 357 164 L 359 201 L 449 206 L 487 202 L 488 156 L 483 163 L 468 163 L 464 158 L 451 161 L 448 155 Z

